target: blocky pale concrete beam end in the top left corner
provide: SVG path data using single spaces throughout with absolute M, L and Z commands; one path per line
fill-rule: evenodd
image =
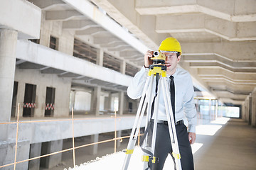
M 30 2 L 1 1 L 0 16 L 0 28 L 16 30 L 18 39 L 38 39 L 40 37 L 41 8 Z

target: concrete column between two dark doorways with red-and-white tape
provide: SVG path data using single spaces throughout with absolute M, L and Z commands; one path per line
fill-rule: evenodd
M 46 86 L 37 84 L 36 86 L 36 108 L 34 112 L 35 118 L 43 118 L 46 111 Z

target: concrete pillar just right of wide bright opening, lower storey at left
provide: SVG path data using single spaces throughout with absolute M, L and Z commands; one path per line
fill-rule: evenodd
M 95 115 L 100 114 L 100 91 L 101 87 L 97 86 L 92 91 L 92 100 L 91 100 L 91 112 Z

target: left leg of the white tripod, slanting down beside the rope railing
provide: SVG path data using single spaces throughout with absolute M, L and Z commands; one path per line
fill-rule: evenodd
M 153 80 L 153 76 L 146 79 L 146 83 L 144 85 L 144 90 L 142 93 L 141 101 L 139 102 L 139 108 L 137 110 L 137 115 L 134 121 L 134 126 L 132 128 L 131 136 L 129 137 L 128 146 L 126 149 L 126 157 L 124 159 L 124 165 L 122 167 L 123 170 L 127 170 L 129 166 L 129 160 L 131 159 L 132 152 L 134 150 L 135 142 L 137 140 L 138 134 L 139 134 L 139 128 L 142 123 L 142 118 L 144 115 L 144 111 L 146 108 L 146 103 L 149 103 L 149 94 L 146 94 L 146 88 L 148 87 L 148 84 Z M 152 83 L 149 86 L 149 89 L 151 89 Z M 149 91 L 150 92 L 150 91 Z

